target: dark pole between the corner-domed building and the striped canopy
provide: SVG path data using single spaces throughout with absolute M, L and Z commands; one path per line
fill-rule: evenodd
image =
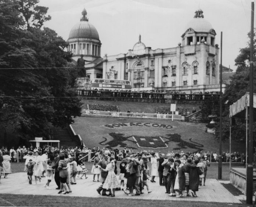
M 222 32 L 220 33 L 220 145 L 219 145 L 219 164 L 218 164 L 218 179 L 222 177 Z

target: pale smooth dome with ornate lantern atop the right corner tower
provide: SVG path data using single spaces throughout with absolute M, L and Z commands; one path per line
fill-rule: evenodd
M 212 24 L 203 18 L 201 9 L 195 11 L 194 19 L 186 26 L 185 30 L 192 28 L 195 32 L 209 32 L 213 29 Z

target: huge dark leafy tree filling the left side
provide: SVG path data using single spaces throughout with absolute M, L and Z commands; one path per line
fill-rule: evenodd
M 66 41 L 49 28 L 47 7 L 38 0 L 0 2 L 0 128 L 17 137 L 47 136 L 49 123 L 66 126 L 80 116 L 81 103 L 66 69 Z

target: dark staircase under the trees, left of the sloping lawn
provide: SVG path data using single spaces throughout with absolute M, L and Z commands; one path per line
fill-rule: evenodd
M 60 140 L 60 147 L 80 147 L 81 141 L 79 135 L 73 133 L 71 126 L 61 127 L 50 127 L 51 139 Z

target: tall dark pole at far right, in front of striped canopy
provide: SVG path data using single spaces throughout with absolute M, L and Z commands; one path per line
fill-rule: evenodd
M 250 76 L 249 76 L 249 140 L 248 165 L 246 166 L 246 203 L 252 204 L 253 192 L 253 37 L 254 37 L 254 2 L 252 2 L 250 25 Z M 247 107 L 247 106 L 246 106 Z

